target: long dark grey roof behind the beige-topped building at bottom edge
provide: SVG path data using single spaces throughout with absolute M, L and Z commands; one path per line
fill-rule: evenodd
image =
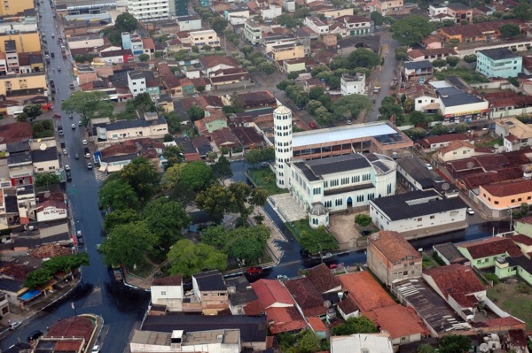
M 220 328 L 239 328 L 242 342 L 263 342 L 268 334 L 265 315 L 148 315 L 141 327 L 145 331 L 168 333 L 174 330 L 196 332 Z

